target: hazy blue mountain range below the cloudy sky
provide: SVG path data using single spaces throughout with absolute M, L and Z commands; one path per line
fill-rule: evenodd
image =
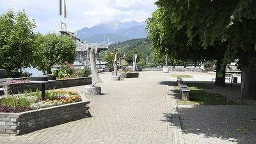
M 97 24 L 92 28 L 83 28 L 76 31 L 76 35 L 83 41 L 93 43 L 116 43 L 132 40 L 134 38 L 146 38 L 146 22 L 119 22 L 110 21 Z

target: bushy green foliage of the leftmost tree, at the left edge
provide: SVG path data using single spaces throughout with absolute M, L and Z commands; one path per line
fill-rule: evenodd
M 17 14 L 8 10 L 0 15 L 0 68 L 6 69 L 10 77 L 22 76 L 21 68 L 33 64 L 35 27 L 24 10 Z

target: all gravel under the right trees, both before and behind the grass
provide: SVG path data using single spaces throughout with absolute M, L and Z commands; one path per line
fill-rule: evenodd
M 205 83 L 211 87 L 207 92 L 220 93 L 230 100 L 240 102 L 240 83 L 216 87 L 214 74 L 200 72 L 172 72 L 188 74 L 193 78 L 182 78 L 185 83 Z M 171 81 L 176 78 L 171 77 Z M 244 100 L 246 105 L 179 106 L 184 141 L 191 143 L 256 143 L 256 102 Z

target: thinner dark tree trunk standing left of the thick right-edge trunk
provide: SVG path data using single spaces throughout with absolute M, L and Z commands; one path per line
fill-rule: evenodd
M 216 86 L 225 86 L 226 66 L 224 69 L 221 70 L 221 63 L 223 63 L 222 60 L 217 60 L 216 62 L 216 79 L 215 79 Z M 223 75 L 222 77 L 218 76 L 219 72 L 221 72 L 221 74 Z

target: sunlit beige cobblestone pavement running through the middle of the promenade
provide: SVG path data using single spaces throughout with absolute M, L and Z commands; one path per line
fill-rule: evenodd
M 175 109 L 168 95 L 170 74 L 140 72 L 139 78 L 124 81 L 110 81 L 109 73 L 100 77 L 103 95 L 86 97 L 91 102 L 91 118 L 0 137 L 0 143 L 182 143 L 172 123 L 177 120 L 170 116 L 171 108 Z M 82 92 L 83 87 L 67 89 Z

